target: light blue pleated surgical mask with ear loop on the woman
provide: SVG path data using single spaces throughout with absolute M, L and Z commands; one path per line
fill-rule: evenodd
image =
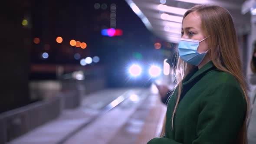
M 209 36 L 208 36 L 209 37 Z M 204 38 L 207 39 L 208 37 Z M 183 39 L 181 38 L 181 41 L 178 45 L 178 51 L 179 56 L 184 62 L 190 63 L 192 65 L 199 65 L 202 61 L 204 56 L 207 54 L 207 52 L 198 53 L 197 48 L 199 46 L 199 43 L 202 42 L 199 40 L 194 39 Z

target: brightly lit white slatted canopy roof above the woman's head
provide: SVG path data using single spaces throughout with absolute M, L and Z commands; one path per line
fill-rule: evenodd
M 238 33 L 243 33 L 250 26 L 250 15 L 241 13 L 244 0 L 126 0 L 126 2 L 149 30 L 172 43 L 178 43 L 180 40 L 184 13 L 196 4 L 215 4 L 225 7 L 233 16 Z

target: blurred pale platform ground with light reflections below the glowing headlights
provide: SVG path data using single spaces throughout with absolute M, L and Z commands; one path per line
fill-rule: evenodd
M 165 112 L 154 88 L 105 89 L 7 144 L 146 144 L 159 136 Z

